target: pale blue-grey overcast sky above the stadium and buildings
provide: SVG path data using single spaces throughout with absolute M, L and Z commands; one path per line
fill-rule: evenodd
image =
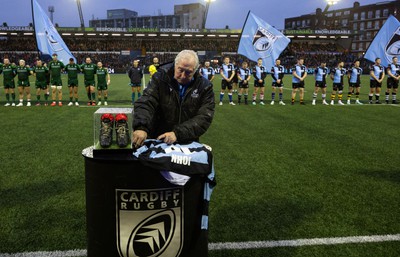
M 44 10 L 54 6 L 54 23 L 60 27 L 79 27 L 76 0 L 37 0 Z M 27 26 L 32 22 L 31 0 L 0 0 L 0 22 L 9 26 Z M 204 2 L 204 0 L 81 0 L 85 26 L 93 17 L 104 19 L 109 9 L 125 8 L 142 15 L 173 14 L 175 4 Z M 353 6 L 354 0 L 340 0 L 331 9 Z M 361 5 L 381 1 L 359 0 Z M 207 28 L 241 29 L 249 10 L 278 29 L 284 28 L 285 18 L 324 9 L 326 0 L 216 0 L 211 3 L 207 18 Z M 50 15 L 49 15 L 50 16 Z

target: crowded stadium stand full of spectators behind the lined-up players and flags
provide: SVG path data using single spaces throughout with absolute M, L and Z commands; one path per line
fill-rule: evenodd
M 140 59 L 142 64 L 146 66 L 151 64 L 153 56 L 159 57 L 160 63 L 173 61 L 176 52 L 185 48 L 195 51 L 212 50 L 219 55 L 229 53 L 231 59 L 237 63 L 245 60 L 242 56 L 235 54 L 239 43 L 238 38 L 165 38 L 154 40 L 148 37 L 143 39 L 65 37 L 64 41 L 76 56 L 78 63 L 83 63 L 84 58 L 89 56 L 95 61 L 102 61 L 106 67 L 111 67 L 116 72 L 125 72 L 131 63 L 129 56 L 121 55 L 123 50 L 137 50 L 145 53 Z M 0 57 L 8 56 L 12 62 L 24 59 L 29 65 L 33 65 L 38 58 L 34 36 L 7 37 L 0 40 L 0 49 L 2 49 Z M 212 59 L 212 57 L 206 56 L 204 58 Z M 317 67 L 321 61 L 326 61 L 327 65 L 332 67 L 339 60 L 343 60 L 346 66 L 351 66 L 351 63 L 358 58 L 332 42 L 297 41 L 291 42 L 281 54 L 282 65 L 289 69 L 298 57 L 304 57 L 309 68 Z M 221 62 L 221 60 L 219 61 Z M 367 67 L 370 63 L 362 61 L 361 65 L 364 70 L 368 70 Z

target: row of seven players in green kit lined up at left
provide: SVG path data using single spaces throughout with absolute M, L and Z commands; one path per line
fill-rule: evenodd
M 69 59 L 69 63 L 64 65 L 58 60 L 57 54 L 53 54 L 52 60 L 46 65 L 41 60 L 36 61 L 34 67 L 29 67 L 24 60 L 19 61 L 19 65 L 10 63 L 8 58 L 4 58 L 4 63 L 0 64 L 0 74 L 3 73 L 3 82 L 6 95 L 5 106 L 23 106 L 24 95 L 26 95 L 26 106 L 31 106 L 31 90 L 29 76 L 35 76 L 36 87 L 36 105 L 42 104 L 41 94 L 44 96 L 44 105 L 48 105 L 50 96 L 49 85 L 52 89 L 51 106 L 62 106 L 62 81 L 61 73 L 65 71 L 68 76 L 69 103 L 68 106 L 79 106 L 78 102 L 78 74 L 84 74 L 84 84 L 88 96 L 88 105 L 96 105 L 95 94 L 95 75 L 97 75 L 98 103 L 102 104 L 102 96 L 104 97 L 104 105 L 107 105 L 108 86 L 110 85 L 110 75 L 107 68 L 103 67 L 102 62 L 97 65 L 92 63 L 88 57 L 85 63 L 78 65 L 74 59 Z M 16 104 L 15 82 L 14 78 L 18 78 L 19 103 Z M 57 103 L 58 98 L 58 103 Z

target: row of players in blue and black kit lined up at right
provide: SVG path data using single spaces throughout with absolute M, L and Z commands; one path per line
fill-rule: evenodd
M 300 104 L 304 105 L 304 86 L 305 78 L 307 77 L 307 67 L 304 65 L 304 59 L 299 58 L 297 64 L 292 68 L 292 93 L 291 93 L 291 104 L 295 104 L 295 99 L 297 92 L 299 92 Z M 392 63 L 386 69 L 388 79 L 387 79 L 387 90 L 385 93 L 385 101 L 387 104 L 390 103 L 390 94 L 392 96 L 392 104 L 397 104 L 397 91 L 400 80 L 400 65 L 398 64 L 398 58 L 393 57 Z M 270 74 L 272 76 L 272 93 L 271 93 L 271 105 L 275 104 L 276 89 L 279 90 L 279 101 L 280 105 L 285 105 L 283 102 L 283 77 L 285 68 L 280 65 L 280 60 L 275 61 L 275 65 L 272 67 Z M 324 105 L 334 105 L 336 100 L 336 95 L 338 98 L 337 103 L 339 105 L 344 105 L 343 103 L 343 89 L 344 89 L 344 78 L 347 76 L 349 81 L 349 91 L 347 95 L 347 104 L 351 104 L 351 98 L 353 94 L 355 95 L 355 103 L 362 104 L 360 101 L 360 88 L 361 79 L 360 76 L 363 73 L 360 67 L 360 61 L 355 61 L 350 69 L 344 68 L 344 62 L 338 63 L 337 67 L 333 69 L 328 69 L 326 67 L 326 62 L 322 62 L 320 66 L 315 69 L 315 88 L 313 92 L 312 105 L 316 105 L 317 96 L 319 91 L 321 91 L 322 104 Z M 209 79 L 214 80 L 215 70 L 210 66 L 210 62 L 206 61 L 204 66 L 200 69 L 200 74 Z M 233 92 L 235 90 L 235 84 L 239 84 L 238 91 L 238 104 L 242 103 L 242 98 L 244 98 L 244 104 L 248 104 L 249 95 L 249 81 L 251 77 L 254 77 L 254 91 L 252 95 L 252 104 L 257 104 L 257 96 L 259 94 L 259 104 L 265 105 L 264 103 L 264 93 L 265 93 L 265 79 L 267 77 L 268 71 L 263 65 L 262 59 L 258 59 L 257 65 L 254 66 L 252 70 L 248 68 L 247 62 L 242 62 L 240 68 L 235 68 L 235 66 L 230 63 L 230 58 L 225 57 L 223 64 L 220 67 L 220 74 L 222 76 L 221 81 L 221 92 L 219 96 L 219 105 L 223 105 L 224 95 L 227 92 L 230 105 L 236 105 L 233 102 Z M 326 77 L 330 76 L 333 81 L 333 90 L 330 96 L 330 103 L 326 100 L 326 89 L 327 80 Z M 369 103 L 370 104 L 380 104 L 380 92 L 382 87 L 383 79 L 385 78 L 385 68 L 381 65 L 381 59 L 376 58 L 374 65 L 370 69 L 370 92 L 369 92 Z M 375 102 L 373 97 L 375 96 Z

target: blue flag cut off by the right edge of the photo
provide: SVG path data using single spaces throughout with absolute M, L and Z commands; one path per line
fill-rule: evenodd
M 381 64 L 388 67 L 395 56 L 400 56 L 400 22 L 390 15 L 368 47 L 364 58 L 374 62 L 379 57 Z

